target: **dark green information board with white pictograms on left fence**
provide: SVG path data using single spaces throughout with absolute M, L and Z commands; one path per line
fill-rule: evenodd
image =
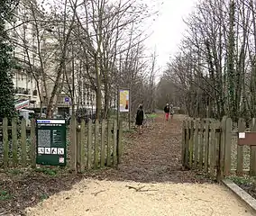
M 36 138 L 37 164 L 66 166 L 67 148 L 65 120 L 37 120 Z

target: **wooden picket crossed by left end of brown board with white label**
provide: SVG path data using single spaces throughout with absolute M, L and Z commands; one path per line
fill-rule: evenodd
M 238 132 L 245 131 L 245 121 L 243 119 L 238 120 Z M 237 164 L 236 164 L 236 175 L 242 175 L 243 169 L 243 146 L 237 144 Z

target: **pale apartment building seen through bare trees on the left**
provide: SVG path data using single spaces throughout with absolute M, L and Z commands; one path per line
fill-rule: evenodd
M 35 0 L 34 0 L 35 1 Z M 40 15 L 40 12 L 37 12 Z M 36 29 L 34 24 L 30 22 L 32 20 L 32 12 L 30 5 L 26 0 L 20 0 L 20 4 L 16 9 L 16 16 L 13 25 L 10 25 L 10 36 L 14 41 L 14 58 L 18 67 L 14 69 L 14 91 L 15 99 L 29 101 L 29 108 L 40 107 L 40 96 L 38 87 L 40 88 L 42 105 L 45 108 L 47 102 L 45 101 L 46 92 L 50 95 L 55 85 L 55 78 L 59 67 L 59 42 L 54 38 L 49 31 L 42 31 L 43 37 L 40 41 L 41 56 L 43 59 L 43 70 L 47 74 L 47 86 L 42 85 L 41 80 L 41 62 L 39 59 L 39 46 L 36 35 Z M 45 30 L 45 26 L 41 26 L 42 30 Z M 44 28 L 44 29 L 43 29 Z M 85 68 L 81 66 L 79 59 L 74 59 L 74 74 L 72 76 L 72 64 L 67 64 L 69 85 L 72 86 L 73 77 L 75 85 L 75 110 L 78 108 L 90 108 L 96 109 L 96 94 L 95 91 L 89 87 L 89 81 L 87 78 L 81 78 L 78 74 L 81 70 L 85 71 Z M 62 90 L 59 95 L 54 98 L 54 112 L 68 112 L 71 110 L 71 93 L 67 80 L 63 82 L 63 76 L 59 80 L 59 86 L 62 86 Z M 67 79 L 67 78 L 66 78 Z M 39 84 L 39 86 L 37 85 Z M 104 95 L 104 94 L 103 94 Z

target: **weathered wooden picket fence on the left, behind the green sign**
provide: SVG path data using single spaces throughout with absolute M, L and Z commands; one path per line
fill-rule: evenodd
M 31 126 L 27 127 L 24 119 L 18 124 L 14 118 L 12 126 L 8 126 L 7 118 L 3 120 L 0 126 L 3 136 L 0 166 L 36 167 L 36 124 L 35 120 L 31 122 Z M 94 124 L 91 121 L 82 121 L 78 125 L 76 118 L 72 117 L 68 134 L 67 157 L 70 169 L 83 172 L 86 169 L 117 166 L 120 163 L 122 121 L 119 125 L 116 120 L 103 120 L 101 123 L 96 121 Z

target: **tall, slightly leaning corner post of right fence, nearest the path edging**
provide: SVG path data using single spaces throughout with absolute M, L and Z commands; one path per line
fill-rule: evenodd
M 217 181 L 221 181 L 224 177 L 224 144 L 225 144 L 225 129 L 226 129 L 226 120 L 227 117 L 224 116 L 221 124 L 221 137 L 219 143 L 219 158 L 218 158 L 218 166 L 217 166 Z

